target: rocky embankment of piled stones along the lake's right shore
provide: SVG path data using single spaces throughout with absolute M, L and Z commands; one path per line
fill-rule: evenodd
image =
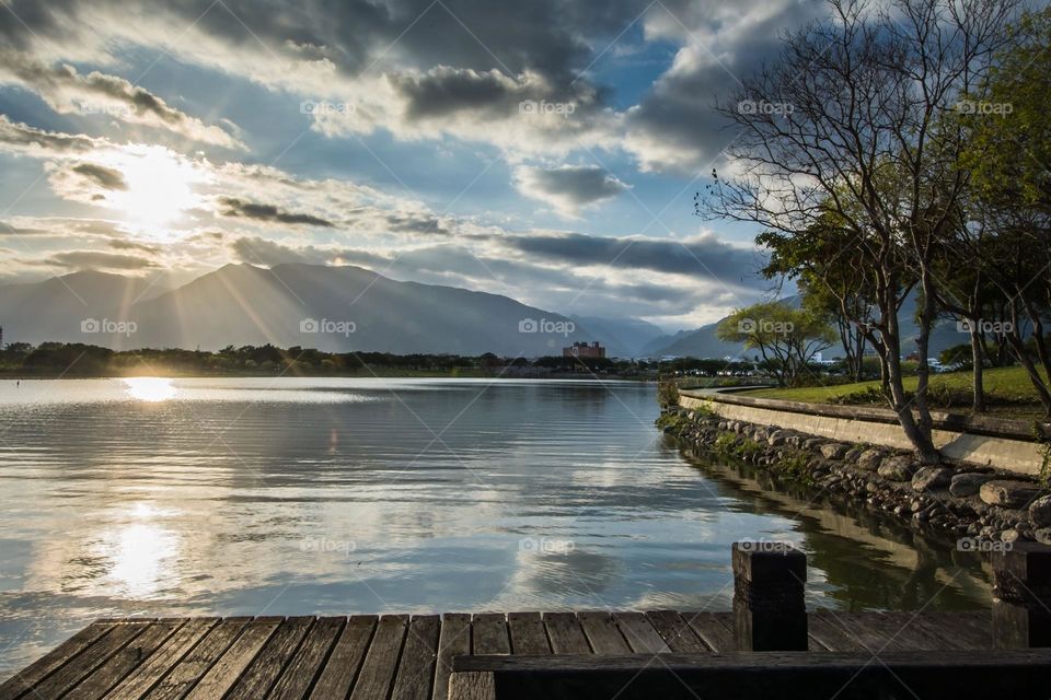
M 683 408 L 665 410 L 657 424 L 697 448 L 892 513 L 917 530 L 955 538 L 961 549 L 1027 540 L 1051 545 L 1051 495 L 1046 485 L 1018 475 L 965 464 L 924 467 L 910 453 Z

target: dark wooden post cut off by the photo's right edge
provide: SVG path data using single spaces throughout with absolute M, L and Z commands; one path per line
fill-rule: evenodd
M 992 561 L 993 646 L 1051 646 L 1051 547 L 1014 542 Z

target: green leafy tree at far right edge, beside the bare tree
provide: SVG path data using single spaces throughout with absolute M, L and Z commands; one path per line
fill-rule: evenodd
M 967 103 L 972 107 L 960 121 L 969 139 L 960 162 L 975 191 L 974 209 L 995 229 L 972 257 L 988 261 L 991 282 L 1008 302 L 1007 343 L 1051 416 L 1044 332 L 1051 315 L 1051 9 L 1024 14 L 1010 36 Z

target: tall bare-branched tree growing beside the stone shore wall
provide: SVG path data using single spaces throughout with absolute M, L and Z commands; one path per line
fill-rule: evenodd
M 844 259 L 863 267 L 875 306 L 866 339 L 885 393 L 924 463 L 940 459 L 927 405 L 936 253 L 967 185 L 957 167 L 962 137 L 943 115 L 981 80 L 1015 5 L 831 0 L 829 21 L 786 37 L 777 62 L 723 106 L 741 131 L 730 151 L 736 172 L 698 197 L 702 215 L 757 222 L 786 241 L 830 234 L 817 242 L 824 255 L 848 249 Z M 797 261 L 818 276 L 830 269 L 828 260 Z M 898 312 L 913 288 L 920 364 L 910 397 Z

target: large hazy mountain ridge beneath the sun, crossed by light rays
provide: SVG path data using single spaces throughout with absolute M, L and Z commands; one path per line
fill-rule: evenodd
M 146 284 L 80 272 L 0 288 L 4 339 L 204 350 L 270 342 L 508 357 L 561 354 L 573 341 L 593 339 L 565 316 L 507 296 L 399 282 L 350 266 L 228 265 L 157 295 L 143 293 Z M 83 332 L 84 319 L 97 322 L 97 329 Z

